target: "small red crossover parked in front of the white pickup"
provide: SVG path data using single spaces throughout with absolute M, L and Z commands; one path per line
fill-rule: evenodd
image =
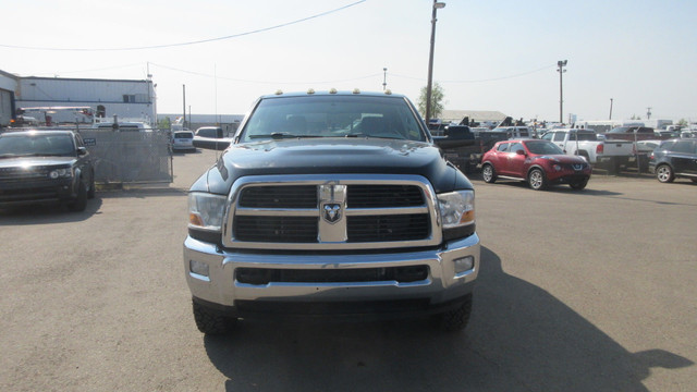
M 549 140 L 513 139 L 497 143 L 481 159 L 485 182 L 497 179 L 525 181 L 536 191 L 551 184 L 568 184 L 583 189 L 588 184 L 590 164 L 582 157 L 567 156 Z

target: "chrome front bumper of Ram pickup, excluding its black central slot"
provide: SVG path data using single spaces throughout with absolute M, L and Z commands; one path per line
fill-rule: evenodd
M 473 268 L 455 272 L 455 260 L 472 256 Z M 351 254 L 261 253 L 221 250 L 215 244 L 191 236 L 184 242 L 186 281 L 195 301 L 237 314 L 239 305 L 276 303 L 345 304 L 418 299 L 428 308 L 456 302 L 473 290 L 479 272 L 480 245 L 477 234 L 451 241 L 437 249 L 370 252 Z M 196 268 L 193 268 L 195 266 Z M 426 279 L 412 282 L 269 282 L 242 283 L 237 268 L 268 269 L 364 269 L 427 266 Z M 201 268 L 203 267 L 203 268 Z M 207 272 L 206 272 L 207 270 Z

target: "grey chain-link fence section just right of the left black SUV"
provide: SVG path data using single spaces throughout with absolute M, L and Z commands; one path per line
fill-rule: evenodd
M 97 183 L 172 182 L 169 131 L 81 130 Z

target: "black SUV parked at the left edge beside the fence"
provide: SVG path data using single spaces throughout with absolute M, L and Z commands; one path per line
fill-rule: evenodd
M 59 203 L 83 211 L 95 196 L 95 171 L 80 134 L 0 134 L 0 208 Z

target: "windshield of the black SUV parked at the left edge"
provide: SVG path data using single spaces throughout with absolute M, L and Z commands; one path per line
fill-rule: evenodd
M 65 134 L 7 134 L 0 137 L 0 158 L 74 155 L 73 139 Z

